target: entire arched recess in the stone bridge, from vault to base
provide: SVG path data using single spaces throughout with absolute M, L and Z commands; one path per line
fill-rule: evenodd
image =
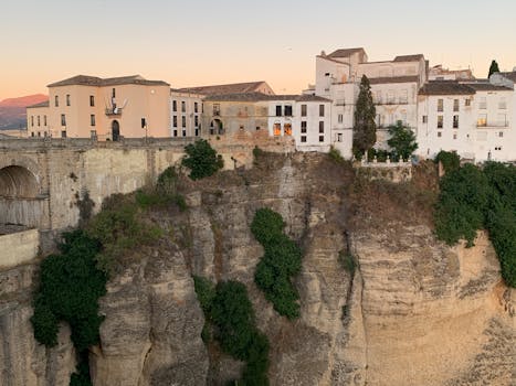
M 0 234 L 40 227 L 46 213 L 44 201 L 31 171 L 19 165 L 0 169 Z

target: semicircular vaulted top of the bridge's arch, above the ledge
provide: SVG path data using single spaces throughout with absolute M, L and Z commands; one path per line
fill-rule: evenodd
M 0 196 L 9 199 L 35 199 L 38 180 L 22 167 L 11 165 L 0 169 Z

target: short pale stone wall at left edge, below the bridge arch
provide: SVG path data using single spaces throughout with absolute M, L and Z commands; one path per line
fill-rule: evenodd
M 32 260 L 38 255 L 39 245 L 38 229 L 0 236 L 0 269 Z

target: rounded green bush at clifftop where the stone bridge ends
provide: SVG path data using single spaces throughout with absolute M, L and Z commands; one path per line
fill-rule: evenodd
M 222 156 L 210 143 L 200 139 L 185 148 L 187 156 L 182 159 L 182 165 L 190 169 L 190 179 L 200 180 L 214 174 L 224 167 Z

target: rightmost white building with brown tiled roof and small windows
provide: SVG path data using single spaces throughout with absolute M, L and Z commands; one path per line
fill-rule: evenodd
M 487 81 L 429 82 L 419 95 L 418 154 L 456 151 L 475 162 L 516 159 L 514 90 Z

